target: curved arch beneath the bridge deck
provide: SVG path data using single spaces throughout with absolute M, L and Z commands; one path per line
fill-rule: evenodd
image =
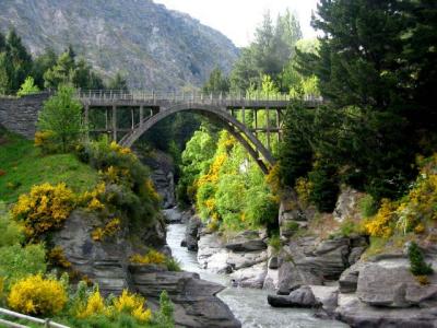
M 132 144 L 149 129 L 151 129 L 158 121 L 166 117 L 180 112 L 196 112 L 209 119 L 218 122 L 226 129 L 234 138 L 243 144 L 248 151 L 250 156 L 257 162 L 261 171 L 267 174 L 269 166 L 274 165 L 274 159 L 271 152 L 258 140 L 257 137 L 240 121 L 227 113 L 226 108 L 214 105 L 175 105 L 169 107 L 160 107 L 160 110 L 151 117 L 144 118 L 142 124 L 137 125 L 135 128 L 126 134 L 119 143 L 123 147 L 132 147 Z M 259 156 L 261 154 L 262 159 Z

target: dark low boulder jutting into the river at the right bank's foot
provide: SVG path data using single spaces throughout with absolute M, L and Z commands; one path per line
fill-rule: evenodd
M 268 303 L 273 307 L 318 307 L 318 302 L 307 285 L 293 291 L 290 295 L 268 295 Z

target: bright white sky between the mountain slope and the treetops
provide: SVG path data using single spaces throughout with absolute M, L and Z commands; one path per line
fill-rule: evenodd
M 202 24 L 222 32 L 238 47 L 247 46 L 253 39 L 253 32 L 268 10 L 274 20 L 277 13 L 290 8 L 299 17 L 304 37 L 316 36 L 310 20 L 311 11 L 316 11 L 318 0 L 154 0 L 154 2 L 190 14 Z

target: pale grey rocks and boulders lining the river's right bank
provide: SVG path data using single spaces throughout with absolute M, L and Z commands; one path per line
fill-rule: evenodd
M 332 220 L 358 215 L 358 192 L 344 190 Z M 269 245 L 263 231 L 231 237 L 211 233 L 193 213 L 184 245 L 198 251 L 202 268 L 228 274 L 235 285 L 269 290 L 271 306 L 316 308 L 318 316 L 351 327 L 437 327 L 437 274 L 421 284 L 410 272 L 406 245 L 367 257 L 369 242 L 363 235 L 299 235 L 290 231 L 290 222 L 308 227 L 316 211 L 288 206 L 281 206 L 280 248 Z M 424 251 L 437 268 L 436 246 Z

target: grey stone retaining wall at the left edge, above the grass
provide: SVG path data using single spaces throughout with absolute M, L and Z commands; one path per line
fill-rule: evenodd
M 0 125 L 12 132 L 33 139 L 36 131 L 38 112 L 48 97 L 48 93 L 28 95 L 21 98 L 0 96 Z

